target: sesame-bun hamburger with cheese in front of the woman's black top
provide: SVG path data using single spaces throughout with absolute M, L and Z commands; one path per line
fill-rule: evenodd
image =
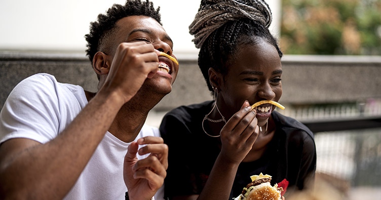
M 278 184 L 271 185 L 271 176 L 254 175 L 250 177 L 252 182 L 243 188 L 242 193 L 235 200 L 281 200 L 283 191 Z

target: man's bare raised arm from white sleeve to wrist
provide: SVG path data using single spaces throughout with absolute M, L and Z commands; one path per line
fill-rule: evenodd
M 3 144 L 2 151 L 8 145 L 7 150 L 12 152 L 6 156 L 2 152 L 0 193 L 22 199 L 63 198 L 123 105 L 114 96 L 96 95 L 57 138 L 46 144 L 30 140 L 28 144 L 25 139 L 18 144 L 17 139 Z

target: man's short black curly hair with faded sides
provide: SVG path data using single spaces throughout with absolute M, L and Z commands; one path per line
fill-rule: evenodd
M 149 0 L 127 0 L 125 5 L 114 4 L 106 14 L 99 14 L 98 21 L 90 23 L 90 33 L 85 35 L 87 41 L 86 55 L 90 61 L 102 45 L 106 43 L 106 37 L 112 34 L 118 20 L 128 17 L 142 15 L 154 18 L 161 25 L 160 7 L 154 8 L 154 4 Z

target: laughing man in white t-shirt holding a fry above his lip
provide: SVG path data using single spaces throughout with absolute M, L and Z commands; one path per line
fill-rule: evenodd
M 143 125 L 178 71 L 160 56 L 172 55 L 173 44 L 159 8 L 113 5 L 86 40 L 96 93 L 39 74 L 9 95 L 0 114 L 0 198 L 124 199 L 127 190 L 130 199 L 163 198 L 168 148 Z

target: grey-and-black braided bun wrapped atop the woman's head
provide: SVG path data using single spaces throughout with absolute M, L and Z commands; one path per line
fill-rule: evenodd
M 192 40 L 197 48 L 208 36 L 227 21 L 248 18 L 269 27 L 272 13 L 263 0 L 202 0 L 195 20 L 189 25 L 189 33 L 195 35 Z

